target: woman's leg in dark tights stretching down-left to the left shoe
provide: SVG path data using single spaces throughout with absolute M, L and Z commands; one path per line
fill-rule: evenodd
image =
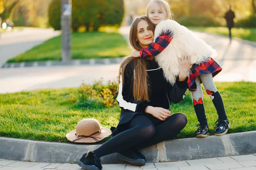
M 155 133 L 153 122 L 145 115 L 140 114 L 134 116 L 128 126 L 130 129 L 114 136 L 93 152 L 96 153 L 98 157 L 121 152 L 150 139 Z

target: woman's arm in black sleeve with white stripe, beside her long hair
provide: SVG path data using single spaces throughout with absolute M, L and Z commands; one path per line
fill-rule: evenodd
M 117 96 L 117 102 L 121 109 L 128 109 L 134 112 L 145 113 L 145 108 L 148 106 L 143 102 L 138 102 L 133 99 L 133 64 L 130 63 L 123 71 L 124 74 L 120 75 L 119 91 Z M 124 75 L 124 77 L 122 77 Z M 124 84 L 122 84 L 124 79 Z

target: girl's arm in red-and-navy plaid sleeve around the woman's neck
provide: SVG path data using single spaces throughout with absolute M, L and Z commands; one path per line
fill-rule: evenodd
M 147 48 L 140 49 L 140 51 L 134 51 L 131 56 L 132 57 L 140 57 L 140 58 L 148 58 L 154 57 L 160 54 L 172 41 L 173 34 L 168 31 L 166 33 L 162 33 L 155 42 L 149 45 Z

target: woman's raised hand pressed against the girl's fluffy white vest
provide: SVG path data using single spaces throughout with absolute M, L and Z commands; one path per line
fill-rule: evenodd
M 179 58 L 179 70 L 180 70 L 180 74 L 179 74 L 179 80 L 180 81 L 184 81 L 187 77 L 187 74 L 190 70 L 190 68 L 192 67 L 191 64 L 191 56 L 183 56 L 181 58 Z

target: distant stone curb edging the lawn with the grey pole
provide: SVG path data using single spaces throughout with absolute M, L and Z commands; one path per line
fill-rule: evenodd
M 40 62 L 17 62 L 5 63 L 2 68 L 23 68 L 23 67 L 45 67 L 45 66 L 67 66 L 67 65 L 108 65 L 119 64 L 121 58 L 104 58 L 104 59 L 73 59 L 70 62 L 62 61 L 40 61 Z

